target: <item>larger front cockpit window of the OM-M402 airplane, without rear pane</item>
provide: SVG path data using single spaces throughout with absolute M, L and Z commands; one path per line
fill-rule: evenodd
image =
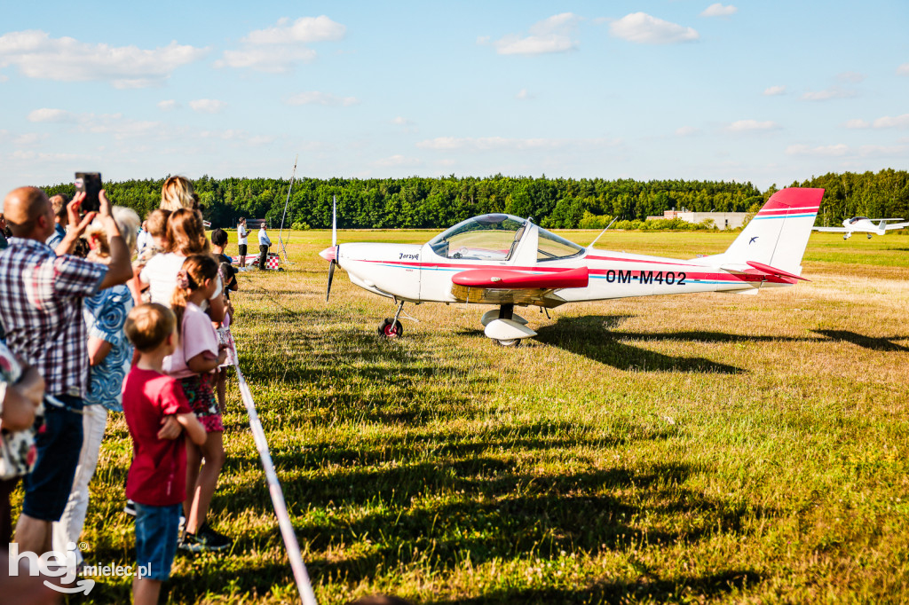
M 507 261 L 526 230 L 527 222 L 511 214 L 484 214 L 439 233 L 429 245 L 445 258 Z

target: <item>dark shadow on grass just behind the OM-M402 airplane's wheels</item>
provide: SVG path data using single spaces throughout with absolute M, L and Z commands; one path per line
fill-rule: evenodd
M 546 325 L 540 328 L 536 340 L 577 355 L 584 355 L 584 357 L 594 362 L 611 365 L 619 370 L 718 374 L 744 372 L 741 368 L 733 365 L 712 362 L 703 357 L 675 357 L 660 352 L 647 351 L 622 342 L 624 340 L 725 342 L 733 341 L 739 337 L 718 332 L 670 332 L 665 334 L 613 332 L 611 329 L 616 327 L 624 317 L 622 315 L 560 317 L 553 325 Z

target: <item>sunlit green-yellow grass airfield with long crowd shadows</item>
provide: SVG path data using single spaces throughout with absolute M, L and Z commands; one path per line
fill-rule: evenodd
M 408 305 L 419 323 L 380 341 L 390 301 L 338 271 L 325 304 L 330 238 L 291 233 L 293 264 L 242 273 L 234 299 L 320 603 L 909 600 L 909 236 L 815 233 L 812 282 L 758 296 L 522 310 L 539 336 L 514 349 L 484 337 L 474 305 Z M 597 247 L 685 258 L 732 239 L 607 232 Z M 295 602 L 233 378 L 227 405 L 212 521 L 235 548 L 178 554 L 169 599 Z M 130 452 L 112 419 L 88 563 L 135 560 Z M 129 599 L 129 579 L 96 580 L 69 602 Z

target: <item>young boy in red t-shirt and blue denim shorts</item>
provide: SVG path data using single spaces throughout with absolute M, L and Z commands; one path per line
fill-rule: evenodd
M 173 418 L 196 444 L 205 443 L 205 427 L 180 382 L 162 368 L 177 345 L 174 312 L 161 304 L 139 305 L 126 317 L 124 330 L 139 353 L 123 382 L 123 412 L 133 438 L 126 497 L 135 501 L 136 563 L 145 570 L 133 580 L 133 600 L 145 605 L 157 603 L 161 583 L 170 577 L 186 498 L 183 434 L 167 439 L 163 427 Z

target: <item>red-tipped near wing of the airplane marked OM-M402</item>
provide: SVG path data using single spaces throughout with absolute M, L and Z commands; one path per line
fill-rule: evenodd
M 587 267 L 534 273 L 516 269 L 471 269 L 452 276 L 452 294 L 460 301 L 486 304 L 539 304 L 564 302 L 552 293 L 563 288 L 585 288 L 590 281 Z

